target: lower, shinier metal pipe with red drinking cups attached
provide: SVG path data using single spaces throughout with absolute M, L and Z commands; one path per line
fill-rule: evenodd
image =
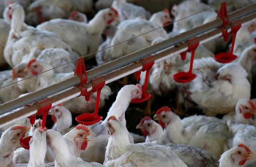
M 242 25 L 248 24 L 252 20 L 256 19 L 256 13 L 251 14 L 249 16 L 246 16 L 245 18 L 241 19 Z M 231 30 L 231 26 L 229 25 L 228 30 Z M 208 33 L 205 33 L 203 35 L 198 36 L 200 43 L 205 43 L 209 40 L 212 40 L 216 37 L 219 37 L 222 34 L 222 31 L 220 29 L 214 29 L 211 30 Z M 163 41 L 164 42 L 164 41 Z M 162 51 L 159 51 L 158 53 L 153 54 L 155 58 L 155 63 L 160 62 L 168 57 L 171 57 L 173 55 L 179 54 L 185 50 L 187 50 L 188 44 L 187 42 L 180 43 L 178 47 L 172 46 L 167 49 L 164 49 Z M 114 70 L 109 72 L 108 74 L 103 75 L 105 78 L 105 83 L 108 84 L 110 82 L 113 82 L 119 78 L 122 78 L 124 76 L 127 76 L 129 74 L 133 74 L 136 71 L 141 70 L 142 63 L 139 61 L 137 63 L 131 63 L 128 64 L 120 69 Z M 56 85 L 56 84 L 55 84 Z M 90 82 L 86 84 L 86 87 L 88 91 L 92 89 L 92 85 Z M 59 103 L 65 102 L 69 99 L 72 99 L 74 97 L 77 97 L 80 95 L 80 89 L 77 87 L 69 88 L 65 91 L 62 91 L 56 95 L 50 96 L 52 106 L 57 105 Z M 17 99 L 16 99 L 17 100 Z M 26 118 L 28 116 L 31 116 L 37 112 L 37 107 L 24 107 L 22 109 L 11 111 L 6 114 L 3 114 L 0 116 L 0 128 L 4 127 L 8 124 L 15 123 L 16 121 Z

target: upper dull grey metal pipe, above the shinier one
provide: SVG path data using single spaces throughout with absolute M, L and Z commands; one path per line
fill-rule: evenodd
M 250 6 L 238 9 L 229 14 L 229 21 L 235 21 L 242 16 L 248 15 L 252 12 L 256 11 L 256 4 L 252 4 Z M 173 46 L 176 43 L 180 43 L 182 41 L 186 41 L 191 39 L 194 36 L 205 33 L 213 28 L 217 28 L 222 25 L 222 19 L 217 18 L 216 20 L 206 23 L 205 25 L 201 25 L 199 27 L 188 30 L 187 32 L 181 33 L 177 36 L 171 37 L 161 43 L 155 44 L 153 46 L 146 47 L 144 49 L 135 51 L 134 53 L 128 54 L 126 56 L 120 57 L 114 61 L 103 64 L 99 67 L 91 69 L 87 71 L 88 79 L 96 78 L 101 75 L 107 74 L 108 72 L 119 69 L 127 64 L 138 61 L 141 58 L 145 58 L 148 55 L 154 54 L 160 50 L 166 49 L 168 47 Z M 15 110 L 21 106 L 32 103 L 34 101 L 40 100 L 47 96 L 53 95 L 54 93 L 63 91 L 65 89 L 71 88 L 80 83 L 80 78 L 78 76 L 73 76 L 65 81 L 53 84 L 51 86 L 47 86 L 46 88 L 34 91 L 28 95 L 23 97 L 19 97 L 17 99 L 11 100 L 4 104 L 0 105 L 0 114 L 7 113 L 9 111 Z

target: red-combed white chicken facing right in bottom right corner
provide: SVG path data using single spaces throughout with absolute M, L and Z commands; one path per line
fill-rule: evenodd
M 245 167 L 250 159 L 255 159 L 255 155 L 244 144 L 225 151 L 219 159 L 219 167 Z

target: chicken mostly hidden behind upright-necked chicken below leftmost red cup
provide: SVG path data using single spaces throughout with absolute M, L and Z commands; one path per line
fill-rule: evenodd
M 38 130 L 38 128 L 41 127 L 41 125 L 42 125 L 42 120 L 37 119 L 35 123 L 32 125 L 32 127 L 30 128 L 28 135 L 33 136 L 34 131 Z M 42 128 L 40 128 L 40 130 L 42 130 Z M 47 151 L 46 151 L 46 154 L 44 154 L 44 156 L 45 156 L 44 158 L 45 163 L 50 163 L 55 160 L 54 155 L 52 154 L 49 147 L 47 147 Z M 25 149 L 23 147 L 15 149 L 14 156 L 13 156 L 14 164 L 17 164 L 17 166 L 21 164 L 27 165 L 25 163 L 28 163 L 29 159 L 30 159 L 30 151 L 28 149 Z

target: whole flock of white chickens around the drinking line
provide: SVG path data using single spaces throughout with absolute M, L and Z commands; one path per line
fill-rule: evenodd
M 95 5 L 92 0 L 0 0 L 4 18 L 0 19 L 0 68 L 11 67 L 0 71 L 0 104 L 70 78 L 78 57 L 85 61 L 95 57 L 102 65 L 215 20 L 220 2 L 176 0 L 171 12 L 151 14 L 126 0 L 98 0 Z M 255 2 L 227 1 L 227 9 L 231 12 Z M 158 2 L 151 8 L 154 5 Z M 97 14 L 88 22 L 84 13 L 95 9 Z M 173 30 L 167 33 L 163 26 L 171 17 Z M 200 44 L 193 64 L 197 77 L 189 83 L 177 83 L 172 76 L 189 69 L 190 53 L 184 61 L 174 55 L 154 64 L 147 90 L 152 97 L 146 117 L 136 126 L 146 138 L 129 132 L 125 118 L 130 101 L 142 96 L 145 72 L 141 72 L 140 84 L 123 82 L 107 117 L 94 125 L 73 127 L 72 114 L 94 111 L 96 92 L 88 102 L 80 96 L 53 106 L 51 129 L 43 128 L 41 119 L 31 127 L 28 118 L 2 128 L 0 166 L 247 166 L 256 159 L 256 100 L 250 99 L 256 76 L 255 37 L 256 22 L 241 27 L 234 46 L 238 58 L 227 64 L 213 56 L 229 50 L 232 36 L 229 42 L 219 37 Z M 111 93 L 105 85 L 100 108 Z M 177 108 L 163 106 L 152 112 L 152 100 L 162 95 L 175 98 Z M 190 110 L 205 115 L 179 117 Z M 29 150 L 17 148 L 25 135 L 32 136 Z

